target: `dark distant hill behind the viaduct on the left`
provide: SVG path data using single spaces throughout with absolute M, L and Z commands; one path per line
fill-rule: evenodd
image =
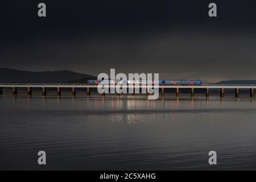
M 96 77 L 68 70 L 30 72 L 0 68 L 0 82 L 2 83 L 84 83 L 89 79 L 96 79 Z

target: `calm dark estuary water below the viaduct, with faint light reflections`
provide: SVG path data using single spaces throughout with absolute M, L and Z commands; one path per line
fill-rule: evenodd
M 256 100 L 1 96 L 0 146 L 0 169 L 256 169 Z

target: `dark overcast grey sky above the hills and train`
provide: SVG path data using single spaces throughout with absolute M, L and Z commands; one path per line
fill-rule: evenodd
M 47 17 L 38 17 L 38 3 Z M 217 4 L 217 18 L 208 5 Z M 6 1 L 0 67 L 256 79 L 256 1 Z

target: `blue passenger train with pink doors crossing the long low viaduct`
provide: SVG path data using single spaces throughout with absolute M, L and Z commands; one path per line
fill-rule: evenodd
M 201 80 L 158 80 L 158 81 L 147 81 L 147 80 L 88 80 L 88 85 L 98 85 L 100 82 L 104 84 L 159 84 L 159 85 L 202 85 Z

